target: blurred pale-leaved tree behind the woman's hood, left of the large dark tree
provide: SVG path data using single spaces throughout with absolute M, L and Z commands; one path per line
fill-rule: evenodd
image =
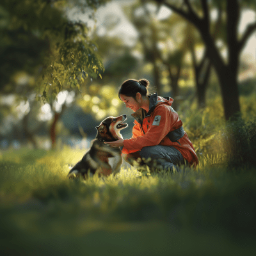
M 173 108 L 178 108 L 179 80 L 185 75 L 184 56 L 188 52 L 186 45 L 186 22 L 178 15 L 159 20 L 156 4 L 140 1 L 140 6 L 134 6 L 132 22 L 140 32 L 140 42 L 143 45 L 145 59 L 154 67 L 154 82 L 157 92 L 161 94 L 161 79 L 167 80 L 172 90 Z M 135 15 L 136 13 L 140 15 Z M 170 26 L 172 24 L 172 26 Z M 186 75 L 185 75 L 186 76 Z

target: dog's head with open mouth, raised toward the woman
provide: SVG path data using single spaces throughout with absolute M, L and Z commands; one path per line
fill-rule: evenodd
M 122 138 L 120 131 L 128 126 L 128 124 L 123 124 L 126 120 L 126 115 L 113 117 L 109 116 L 104 119 L 97 129 L 96 138 L 101 141 L 116 141 L 118 137 Z

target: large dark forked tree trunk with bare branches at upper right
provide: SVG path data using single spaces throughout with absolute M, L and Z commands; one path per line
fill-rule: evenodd
M 188 20 L 195 26 L 202 40 L 204 41 L 207 54 L 211 63 L 216 70 L 220 86 L 221 95 L 223 98 L 223 106 L 225 118 L 233 118 L 237 112 L 240 112 L 239 92 L 237 85 L 237 74 L 239 67 L 239 55 L 252 33 L 256 30 L 256 22 L 252 22 L 247 26 L 243 35 L 238 35 L 237 25 L 239 15 L 243 8 L 243 4 L 238 0 L 226 1 L 189 1 L 184 0 L 182 6 L 177 5 L 177 1 L 155 0 L 159 4 L 168 6 L 173 12 L 178 13 L 184 19 Z M 251 4 L 253 1 L 246 1 L 246 4 Z M 210 8 L 211 4 L 218 10 L 225 10 L 225 15 L 222 15 L 222 20 L 225 22 L 225 33 L 223 33 L 223 42 L 227 42 L 228 60 L 221 56 L 221 52 L 212 37 Z M 226 40 L 227 39 L 227 40 Z

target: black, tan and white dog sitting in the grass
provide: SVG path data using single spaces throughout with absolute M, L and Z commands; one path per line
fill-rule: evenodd
M 109 116 L 96 127 L 97 135 L 92 141 L 92 147 L 83 158 L 74 165 L 68 173 L 68 178 L 82 176 L 87 179 L 89 175 L 98 173 L 99 176 L 108 176 L 118 173 L 122 164 L 122 152 L 119 147 L 109 147 L 105 141 L 116 141 L 118 137 L 123 138 L 120 131 L 128 126 L 123 122 L 126 115 Z

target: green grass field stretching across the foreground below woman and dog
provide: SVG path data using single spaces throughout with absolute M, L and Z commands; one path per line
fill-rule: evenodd
M 69 180 L 83 150 L 0 155 L 2 255 L 255 255 L 256 173 L 195 170 Z

